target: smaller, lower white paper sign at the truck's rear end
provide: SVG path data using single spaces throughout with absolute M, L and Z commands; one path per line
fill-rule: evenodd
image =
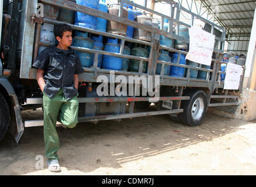
M 238 89 L 242 74 L 241 65 L 227 64 L 224 89 Z

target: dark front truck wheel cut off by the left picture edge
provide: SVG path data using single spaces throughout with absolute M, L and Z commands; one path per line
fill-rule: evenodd
M 9 106 L 4 96 L 0 93 L 0 141 L 4 138 L 11 120 Z

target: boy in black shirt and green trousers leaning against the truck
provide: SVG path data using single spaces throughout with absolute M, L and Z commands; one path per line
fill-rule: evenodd
M 41 51 L 33 67 L 43 92 L 44 143 L 50 171 L 61 171 L 57 151 L 60 140 L 56 122 L 68 128 L 78 123 L 78 74 L 84 72 L 77 54 L 70 48 L 72 29 L 66 24 L 54 27 L 58 44 Z

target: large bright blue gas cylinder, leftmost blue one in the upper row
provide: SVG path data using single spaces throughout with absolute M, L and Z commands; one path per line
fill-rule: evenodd
M 77 0 L 77 4 L 99 9 L 99 0 Z M 75 25 L 96 29 L 97 17 L 82 12 L 75 12 Z

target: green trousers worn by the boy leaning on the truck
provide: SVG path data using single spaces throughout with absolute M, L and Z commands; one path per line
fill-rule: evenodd
M 65 99 L 63 89 L 58 91 L 53 99 L 43 93 L 44 108 L 44 144 L 47 160 L 58 160 L 57 151 L 60 148 L 60 139 L 56 131 L 56 122 L 68 128 L 74 128 L 78 123 L 78 99 Z

